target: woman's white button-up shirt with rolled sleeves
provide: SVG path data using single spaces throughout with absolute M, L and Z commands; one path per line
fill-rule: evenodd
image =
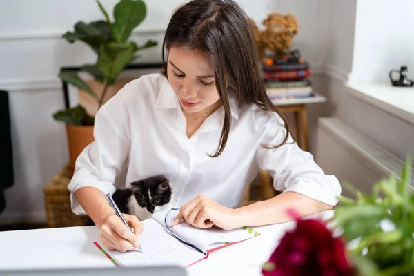
M 112 194 L 115 188 L 160 174 L 170 180 L 176 208 L 199 194 L 237 208 L 259 170 L 270 172 L 276 190 L 337 204 L 339 181 L 325 175 L 291 138 L 275 149 L 261 146 L 277 146 L 284 139 L 286 130 L 277 114 L 255 105 L 239 108 L 232 98 L 230 110 L 226 148 L 213 158 L 208 153 L 219 145 L 222 106 L 188 138 L 186 119 L 166 77 L 144 75 L 126 84 L 97 112 L 95 141 L 77 158 L 68 186 L 73 212 L 86 214 L 74 195 L 81 187 Z

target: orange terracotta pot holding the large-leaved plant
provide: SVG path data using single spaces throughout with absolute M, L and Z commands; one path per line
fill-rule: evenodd
M 66 135 L 68 135 L 70 170 L 73 172 L 79 154 L 94 141 L 93 126 L 66 125 Z

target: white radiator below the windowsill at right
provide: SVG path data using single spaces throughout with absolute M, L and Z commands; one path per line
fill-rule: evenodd
M 319 118 L 315 161 L 326 174 L 335 175 L 340 182 L 346 181 L 364 193 L 371 193 L 376 181 L 391 174 L 400 179 L 405 164 L 405 160 L 335 117 Z M 413 184 L 414 179 L 411 191 Z M 345 188 L 342 195 L 351 196 Z

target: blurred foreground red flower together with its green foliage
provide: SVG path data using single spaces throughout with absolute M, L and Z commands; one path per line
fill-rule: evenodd
M 262 275 L 414 275 L 412 170 L 408 158 L 400 179 L 378 181 L 371 194 L 346 185 L 355 199 L 341 197 L 328 221 L 290 211 L 297 225 L 282 237 Z

